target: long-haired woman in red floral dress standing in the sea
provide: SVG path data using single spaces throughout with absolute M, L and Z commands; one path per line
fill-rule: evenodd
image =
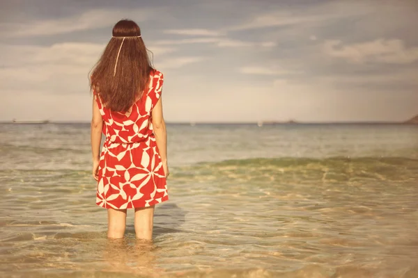
M 150 65 L 139 26 L 118 22 L 91 74 L 93 177 L 96 204 L 107 208 L 108 238 L 123 238 L 127 208 L 134 208 L 137 238 L 152 240 L 155 204 L 169 199 L 163 80 Z

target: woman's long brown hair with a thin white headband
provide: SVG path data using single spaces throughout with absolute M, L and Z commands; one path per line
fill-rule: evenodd
M 126 112 L 142 96 L 153 67 L 138 24 L 123 19 L 115 24 L 112 35 L 93 68 L 90 86 L 104 106 Z

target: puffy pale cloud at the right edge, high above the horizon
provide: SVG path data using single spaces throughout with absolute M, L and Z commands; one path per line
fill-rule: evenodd
M 348 63 L 410 64 L 418 60 L 418 47 L 405 47 L 402 40 L 373 40 L 344 45 L 340 40 L 324 42 L 325 54 Z

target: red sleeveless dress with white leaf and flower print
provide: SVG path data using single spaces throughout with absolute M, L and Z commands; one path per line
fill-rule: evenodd
M 148 92 L 132 105 L 130 115 L 110 111 L 94 93 L 106 136 L 100 155 L 96 204 L 103 208 L 141 208 L 169 199 L 151 122 L 164 77 L 151 71 Z

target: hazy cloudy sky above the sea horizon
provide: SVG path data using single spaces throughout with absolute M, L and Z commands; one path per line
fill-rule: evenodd
M 418 114 L 418 1 L 0 1 L 0 121 L 89 122 L 120 19 L 164 73 L 167 122 L 403 121 Z

